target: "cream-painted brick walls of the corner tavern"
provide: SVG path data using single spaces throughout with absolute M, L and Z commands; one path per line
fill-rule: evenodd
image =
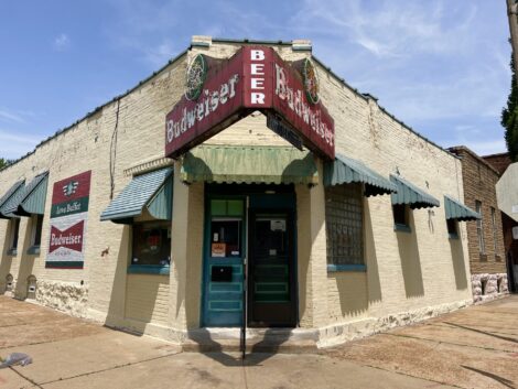
M 40 280 L 72 282 L 78 287 L 84 281 L 84 288 L 88 289 L 89 317 L 117 325 L 125 323 L 125 316 L 131 314 L 164 323 L 162 304 L 155 303 L 152 312 L 142 313 L 149 309 L 147 304 L 152 300 L 153 291 L 160 290 L 161 299 L 166 294 L 162 279 L 157 277 L 136 283 L 137 279 L 126 274 L 130 227 L 99 221 L 100 213 L 110 202 L 110 161 L 115 164 L 116 196 L 131 180 L 123 174 L 125 170 L 139 161 L 163 156 L 165 115 L 183 93 L 187 61 L 199 52 L 226 57 L 238 47 L 238 44 L 223 43 L 214 43 L 209 48 L 194 47 L 120 100 L 107 104 L 71 130 L 39 147 L 35 153 L 1 171 L 1 192 L 18 179 L 32 179 L 44 170 L 51 172 L 48 187 L 55 181 L 90 169 L 93 182 L 85 269 L 44 268 L 48 246 L 48 194 L 40 256 L 8 257 L 2 241 L 8 223 L 0 220 L 0 280 L 11 272 L 21 281 L 30 274 Z M 307 52 L 293 52 L 289 46 L 280 47 L 279 53 L 289 61 L 309 55 Z M 326 270 L 322 182 L 311 190 L 298 187 L 299 234 L 309 239 L 299 239 L 301 324 L 324 326 L 470 299 L 466 229 L 462 225 L 462 239 L 455 244 L 449 241 L 442 198 L 443 194 L 463 198 L 460 161 L 410 131 L 374 100 L 358 95 L 323 67 L 319 67 L 319 74 L 321 98 L 335 119 L 337 151 L 363 160 L 385 176 L 399 169 L 403 177 L 439 198 L 441 207 L 432 213 L 427 209 L 413 212 L 413 233 L 402 237 L 393 231 L 390 196 L 366 199 L 368 271 L 331 274 Z M 287 144 L 265 127 L 265 117 L 256 114 L 207 142 Z M 177 163 L 175 169 L 177 173 Z M 322 180 L 322 161 L 319 161 L 319 169 Z M 173 239 L 175 263 L 170 277 L 168 323 L 182 329 L 196 326 L 199 317 L 203 186 L 186 187 L 175 179 L 174 187 L 173 237 L 176 237 L 176 244 Z M 20 247 L 23 248 L 30 233 L 26 223 L 28 219 L 22 218 Z M 188 231 L 182 231 L 185 228 Z M 311 242 L 311 246 L 304 242 Z M 411 245 L 417 250 L 404 249 Z M 139 290 L 143 293 L 132 294 Z

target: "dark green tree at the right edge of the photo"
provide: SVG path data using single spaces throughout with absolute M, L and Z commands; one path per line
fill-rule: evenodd
M 501 126 L 506 129 L 506 143 L 512 162 L 518 162 L 518 84 L 516 77 L 515 60 L 511 56 L 512 72 L 510 94 L 507 107 L 501 110 Z

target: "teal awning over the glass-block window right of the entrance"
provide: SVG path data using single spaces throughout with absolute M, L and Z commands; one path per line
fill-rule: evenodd
M 336 154 L 333 162 L 324 165 L 324 185 L 365 184 L 365 196 L 376 196 L 397 192 L 397 186 L 382 175 L 367 168 L 361 161 Z

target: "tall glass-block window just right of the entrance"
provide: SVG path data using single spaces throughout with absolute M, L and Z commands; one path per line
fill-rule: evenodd
M 325 188 L 328 264 L 364 264 L 364 217 L 360 184 Z

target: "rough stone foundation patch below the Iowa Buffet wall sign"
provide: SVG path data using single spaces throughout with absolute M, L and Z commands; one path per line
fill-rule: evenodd
M 39 304 L 65 312 L 72 316 L 86 317 L 88 288 L 77 283 L 37 281 L 35 301 Z

